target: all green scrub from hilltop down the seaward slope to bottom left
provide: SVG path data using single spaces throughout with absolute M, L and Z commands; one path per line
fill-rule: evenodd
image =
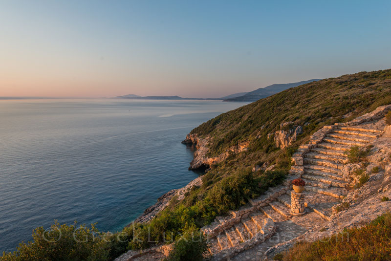
M 33 241 L 22 244 L 15 253 L 3 254 L 0 260 L 111 261 L 129 249 L 145 249 L 161 242 L 174 242 L 169 261 L 197 260 L 204 251 L 202 240 L 199 244 L 189 243 L 182 238 L 183 235 L 186 238 L 199 233 L 199 229 L 217 215 L 226 215 L 228 210 L 238 209 L 269 187 L 281 184 L 290 169 L 292 154 L 315 131 L 391 104 L 390 80 L 391 69 L 329 78 L 290 88 L 221 114 L 195 128 L 192 133 L 211 137 L 211 156 L 217 156 L 244 141 L 250 142 L 248 149 L 232 153 L 224 161 L 210 166 L 211 170 L 204 174 L 202 186 L 193 187 L 180 201 L 172 199 L 169 206 L 151 222 L 134 224 L 115 234 L 99 233 L 93 226 L 89 229 L 84 227 L 80 232 L 78 230 L 80 237 L 94 236 L 95 240 L 81 244 L 74 244 L 69 237 L 55 243 L 43 242 L 40 239 L 43 228 L 38 228 Z M 267 134 L 279 131 L 280 124 L 288 121 L 292 124 L 283 127 L 284 130 L 300 125 L 303 133 L 288 148 L 277 148 L 273 138 L 267 139 Z M 260 135 L 256 138 L 258 132 Z M 368 152 L 369 149 L 354 149 L 350 156 L 357 162 Z M 252 167 L 263 163 L 275 165 L 274 171 L 251 171 Z M 360 183 L 365 183 L 368 178 L 368 174 L 363 173 Z M 57 223 L 54 228 L 64 235 L 75 230 L 75 227 Z M 62 254 L 57 256 L 59 252 Z

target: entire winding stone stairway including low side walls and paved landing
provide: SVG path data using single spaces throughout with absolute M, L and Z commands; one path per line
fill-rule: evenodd
M 382 106 L 351 122 L 325 126 L 311 135 L 309 143 L 300 146 L 292 156 L 291 175 L 282 185 L 269 188 L 264 195 L 250 200 L 249 205 L 201 228 L 209 242 L 211 260 L 265 260 L 267 250 L 276 244 L 323 227 L 332 218 L 332 207 L 348 194 L 348 182 L 341 173 L 348 163 L 345 152 L 352 146 L 365 146 L 381 135 L 384 123 L 380 121 L 384 122 L 389 110 L 391 105 Z M 304 216 L 290 212 L 291 181 L 298 177 L 306 182 Z M 163 252 L 159 248 L 154 253 Z M 138 260 L 125 256 L 117 260 Z M 147 257 L 140 260 L 152 260 Z

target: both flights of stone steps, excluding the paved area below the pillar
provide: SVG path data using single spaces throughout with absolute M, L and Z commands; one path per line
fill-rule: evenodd
M 285 182 L 285 187 L 274 189 L 280 189 L 277 195 L 273 189 L 269 190 L 266 195 L 251 200 L 250 207 L 231 212 L 230 217 L 217 218 L 215 227 L 220 226 L 220 231 L 209 233 L 212 260 L 233 258 L 237 253 L 246 250 L 246 247 L 240 245 L 259 234 L 267 219 L 271 219 L 277 227 L 291 227 L 293 230 L 296 227 L 297 233 L 305 230 L 300 219 L 305 220 L 309 213 L 321 218 L 312 215 L 309 218 L 313 222 L 312 225 L 331 220 L 332 207 L 348 194 L 348 182 L 341 174 L 344 165 L 348 163 L 345 152 L 352 146 L 365 146 L 381 134 L 380 130 L 370 128 L 370 125 L 373 125 L 373 122 L 360 126 L 326 126 L 320 130 L 321 138 L 316 139 L 315 134 L 315 141 L 311 140 L 310 144 L 302 145 L 292 157 L 295 164 L 292 166 L 292 176 Z M 293 217 L 290 212 L 290 182 L 297 177 L 301 177 L 306 183 L 304 205 L 308 214 L 304 217 Z M 290 223 L 292 220 L 295 220 L 294 224 Z M 213 228 L 210 228 L 210 231 L 212 230 Z

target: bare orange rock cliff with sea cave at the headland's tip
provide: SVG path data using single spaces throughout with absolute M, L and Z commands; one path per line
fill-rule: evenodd
M 217 157 L 208 157 L 209 152 L 208 143 L 210 138 L 199 138 L 197 134 L 187 134 L 186 139 L 182 141 L 183 144 L 195 145 L 197 149 L 194 153 L 194 159 L 190 162 L 189 170 L 200 170 L 205 171 L 210 168 L 213 164 L 217 164 L 226 159 L 230 154 L 237 154 L 247 150 L 250 142 L 241 142 L 236 146 L 232 146 L 225 152 L 220 153 Z

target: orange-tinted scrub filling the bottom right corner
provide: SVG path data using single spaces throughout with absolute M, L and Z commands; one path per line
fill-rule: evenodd
M 330 238 L 299 242 L 279 258 L 282 261 L 391 260 L 391 214 Z

